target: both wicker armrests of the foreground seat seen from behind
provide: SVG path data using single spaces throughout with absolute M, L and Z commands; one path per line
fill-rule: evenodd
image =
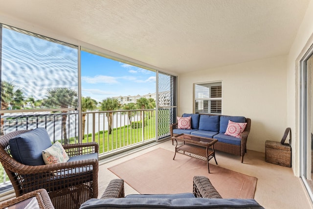
M 219 192 L 211 184 L 210 180 L 205 176 L 194 176 L 193 185 L 193 194 L 195 195 L 195 197 L 222 198 Z M 113 179 L 107 186 L 100 199 L 123 197 L 125 197 L 124 180 Z

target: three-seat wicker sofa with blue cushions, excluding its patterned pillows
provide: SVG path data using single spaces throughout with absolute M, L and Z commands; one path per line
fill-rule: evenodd
M 214 149 L 233 155 L 241 156 L 241 163 L 244 162 L 246 153 L 246 141 L 250 132 L 251 119 L 244 116 L 224 116 L 210 114 L 183 114 L 183 117 L 191 117 L 191 129 L 179 129 L 178 123 L 170 125 L 171 138 L 179 134 L 189 134 L 199 137 L 218 139 Z M 241 138 L 225 135 L 228 120 L 238 123 L 246 122 L 245 131 Z M 174 141 L 172 139 L 172 143 Z

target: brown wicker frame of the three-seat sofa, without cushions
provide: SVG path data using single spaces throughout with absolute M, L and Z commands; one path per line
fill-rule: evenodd
M 212 114 L 201 114 L 201 115 L 215 116 Z M 223 116 L 223 115 L 221 115 L 221 116 Z M 246 153 L 246 141 L 247 141 L 248 135 L 250 133 L 251 119 L 246 118 L 246 123 L 247 124 L 246 124 L 245 131 L 241 135 L 241 144 L 240 145 L 228 144 L 228 143 L 218 141 L 214 144 L 215 151 L 218 150 L 218 151 L 226 152 L 229 154 L 241 156 L 241 163 L 243 163 L 244 162 L 244 156 Z M 176 128 L 178 128 L 178 123 L 174 123 L 174 124 L 170 125 L 171 139 L 172 139 L 172 137 L 178 135 L 178 134 L 173 134 L 173 129 L 176 129 Z M 172 139 L 172 141 L 173 141 L 173 139 Z

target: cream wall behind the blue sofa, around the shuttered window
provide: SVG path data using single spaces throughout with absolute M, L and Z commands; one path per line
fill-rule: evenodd
M 193 113 L 193 84 L 222 81 L 222 114 L 251 118 L 247 149 L 265 152 L 287 128 L 287 56 L 179 75 L 178 115 Z

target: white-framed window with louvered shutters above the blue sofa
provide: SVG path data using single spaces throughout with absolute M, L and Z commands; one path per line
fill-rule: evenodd
M 222 82 L 194 86 L 195 112 L 222 114 Z

